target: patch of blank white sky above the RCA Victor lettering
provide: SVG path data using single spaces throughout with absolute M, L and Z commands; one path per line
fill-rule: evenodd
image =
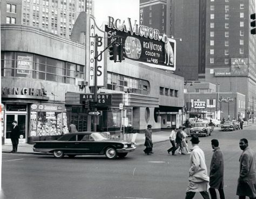
M 139 24 L 139 0 L 95 0 L 95 19 L 98 27 L 107 22 L 107 17 L 137 20 Z

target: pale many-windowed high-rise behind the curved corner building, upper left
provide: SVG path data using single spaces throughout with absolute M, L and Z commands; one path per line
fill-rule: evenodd
M 94 14 L 94 0 L 2 0 L 1 24 L 29 25 L 69 38 L 80 12 Z

